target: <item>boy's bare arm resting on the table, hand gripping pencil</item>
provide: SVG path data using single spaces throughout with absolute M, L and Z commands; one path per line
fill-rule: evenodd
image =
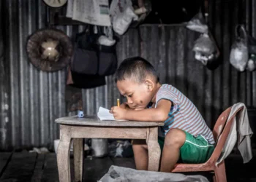
M 115 119 L 126 119 L 140 122 L 164 122 L 170 112 L 170 100 L 161 99 L 156 108 L 147 108 L 139 111 L 132 109 L 126 110 L 118 106 L 111 108 Z

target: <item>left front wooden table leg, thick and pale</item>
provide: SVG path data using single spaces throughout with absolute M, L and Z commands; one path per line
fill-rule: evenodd
M 70 127 L 67 125 L 60 125 L 60 140 L 57 149 L 57 164 L 59 171 L 60 182 L 70 182 L 70 163 L 69 163 L 69 152 L 70 152 Z

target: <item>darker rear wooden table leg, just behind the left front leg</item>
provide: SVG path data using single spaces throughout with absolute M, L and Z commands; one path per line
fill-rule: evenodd
M 73 138 L 75 182 L 83 181 L 83 138 Z

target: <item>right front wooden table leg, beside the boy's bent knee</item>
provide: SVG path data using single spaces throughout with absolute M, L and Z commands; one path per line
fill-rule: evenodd
M 148 145 L 148 170 L 158 171 L 161 156 L 161 149 L 158 143 L 158 127 L 148 128 L 146 142 Z

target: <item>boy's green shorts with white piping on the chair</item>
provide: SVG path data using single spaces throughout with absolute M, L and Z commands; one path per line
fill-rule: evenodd
M 187 164 L 199 164 L 206 162 L 214 151 L 214 145 L 210 145 L 202 135 L 198 135 L 197 138 L 195 138 L 189 132 L 185 133 L 186 141 L 183 146 L 181 146 L 179 161 Z M 158 143 L 162 151 L 165 138 L 159 137 Z

